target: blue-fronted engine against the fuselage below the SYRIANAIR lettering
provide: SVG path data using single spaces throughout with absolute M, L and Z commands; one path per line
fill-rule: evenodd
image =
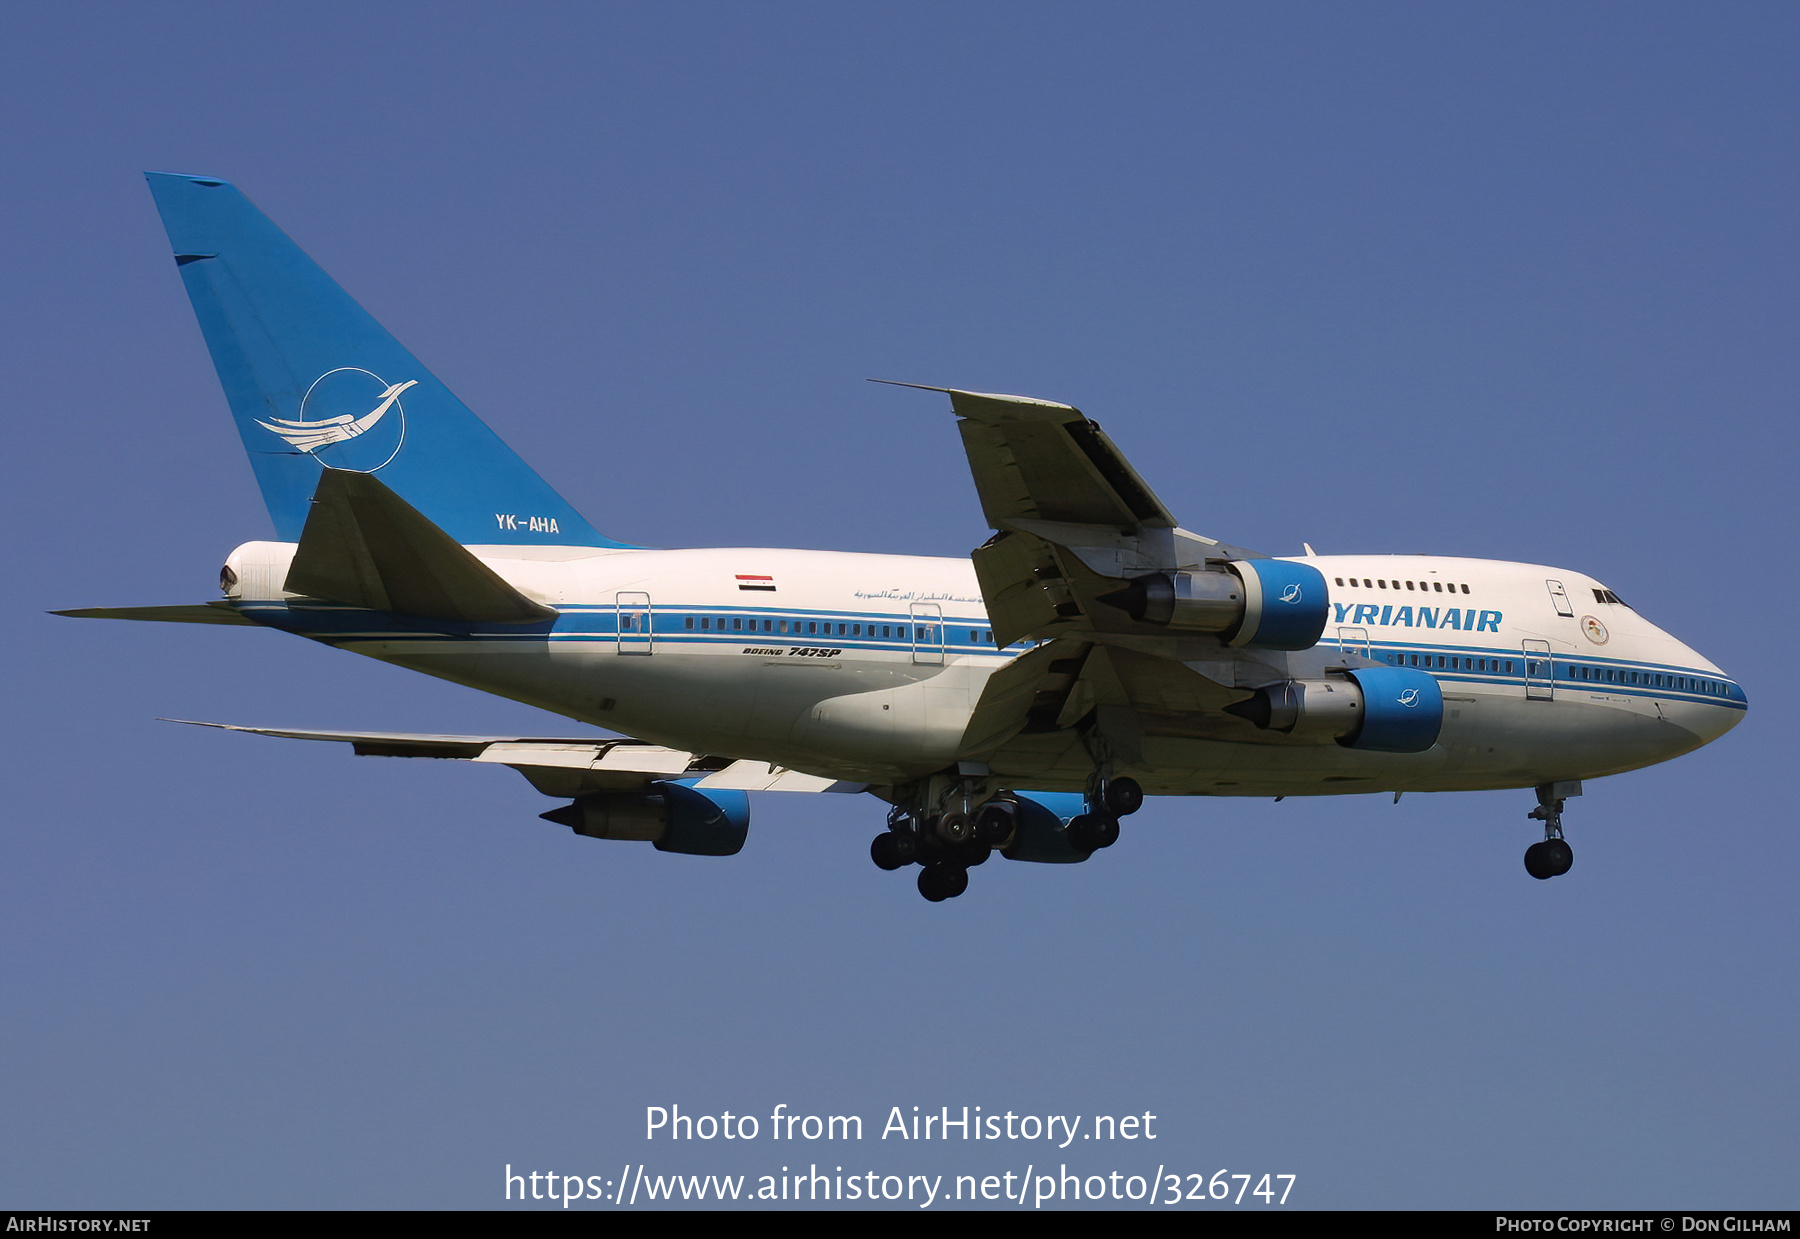
M 1346 749 L 1424 753 L 1444 728 L 1438 681 L 1404 666 L 1363 666 L 1350 679 L 1291 679 L 1226 706 L 1264 731 L 1336 740 Z

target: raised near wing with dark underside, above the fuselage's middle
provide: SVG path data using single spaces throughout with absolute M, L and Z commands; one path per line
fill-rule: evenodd
M 1152 630 L 1118 605 L 1120 591 L 1139 576 L 1269 556 L 1177 528 L 1080 409 L 931 391 L 950 396 L 981 510 L 995 529 L 970 556 L 994 641 L 1039 643 L 986 683 L 961 753 L 1006 762 L 1015 742 L 1031 746 L 1058 731 L 1098 733 L 1127 762 L 1141 760 L 1147 735 L 1269 742 L 1224 708 L 1283 679 L 1285 659 Z

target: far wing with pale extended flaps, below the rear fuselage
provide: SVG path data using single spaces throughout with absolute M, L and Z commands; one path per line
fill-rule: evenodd
M 290 731 L 194 719 L 164 719 L 164 722 L 247 731 L 283 740 L 335 740 L 349 744 L 356 756 L 428 756 L 509 765 L 545 796 L 574 798 L 599 791 L 632 791 L 673 780 L 698 791 L 745 792 L 860 792 L 868 787 L 868 783 L 844 783 L 767 762 L 684 753 L 632 738 Z

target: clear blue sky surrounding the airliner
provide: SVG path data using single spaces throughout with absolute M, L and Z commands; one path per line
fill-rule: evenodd
M 1148 1109 L 1156 1160 L 1307 1207 L 1791 1207 L 1796 36 L 1766 4 L 9 7 L 0 1201 L 760 1174 L 643 1109 L 787 1102 Z M 668 857 L 504 771 L 153 722 L 572 729 L 43 614 L 212 596 L 268 535 L 146 167 L 234 180 L 612 537 L 965 555 L 943 402 L 862 380 L 1017 391 L 1231 542 L 1593 573 L 1750 717 L 1589 783 L 1555 882 L 1530 792 L 1195 800 L 936 908 L 860 800 Z

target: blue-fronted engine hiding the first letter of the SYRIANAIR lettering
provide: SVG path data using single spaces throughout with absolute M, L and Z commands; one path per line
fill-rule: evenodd
M 1310 650 L 1330 618 L 1325 576 L 1292 560 L 1231 560 L 1219 573 L 1152 573 L 1100 601 L 1143 623 L 1217 632 L 1226 645 L 1258 650 Z

